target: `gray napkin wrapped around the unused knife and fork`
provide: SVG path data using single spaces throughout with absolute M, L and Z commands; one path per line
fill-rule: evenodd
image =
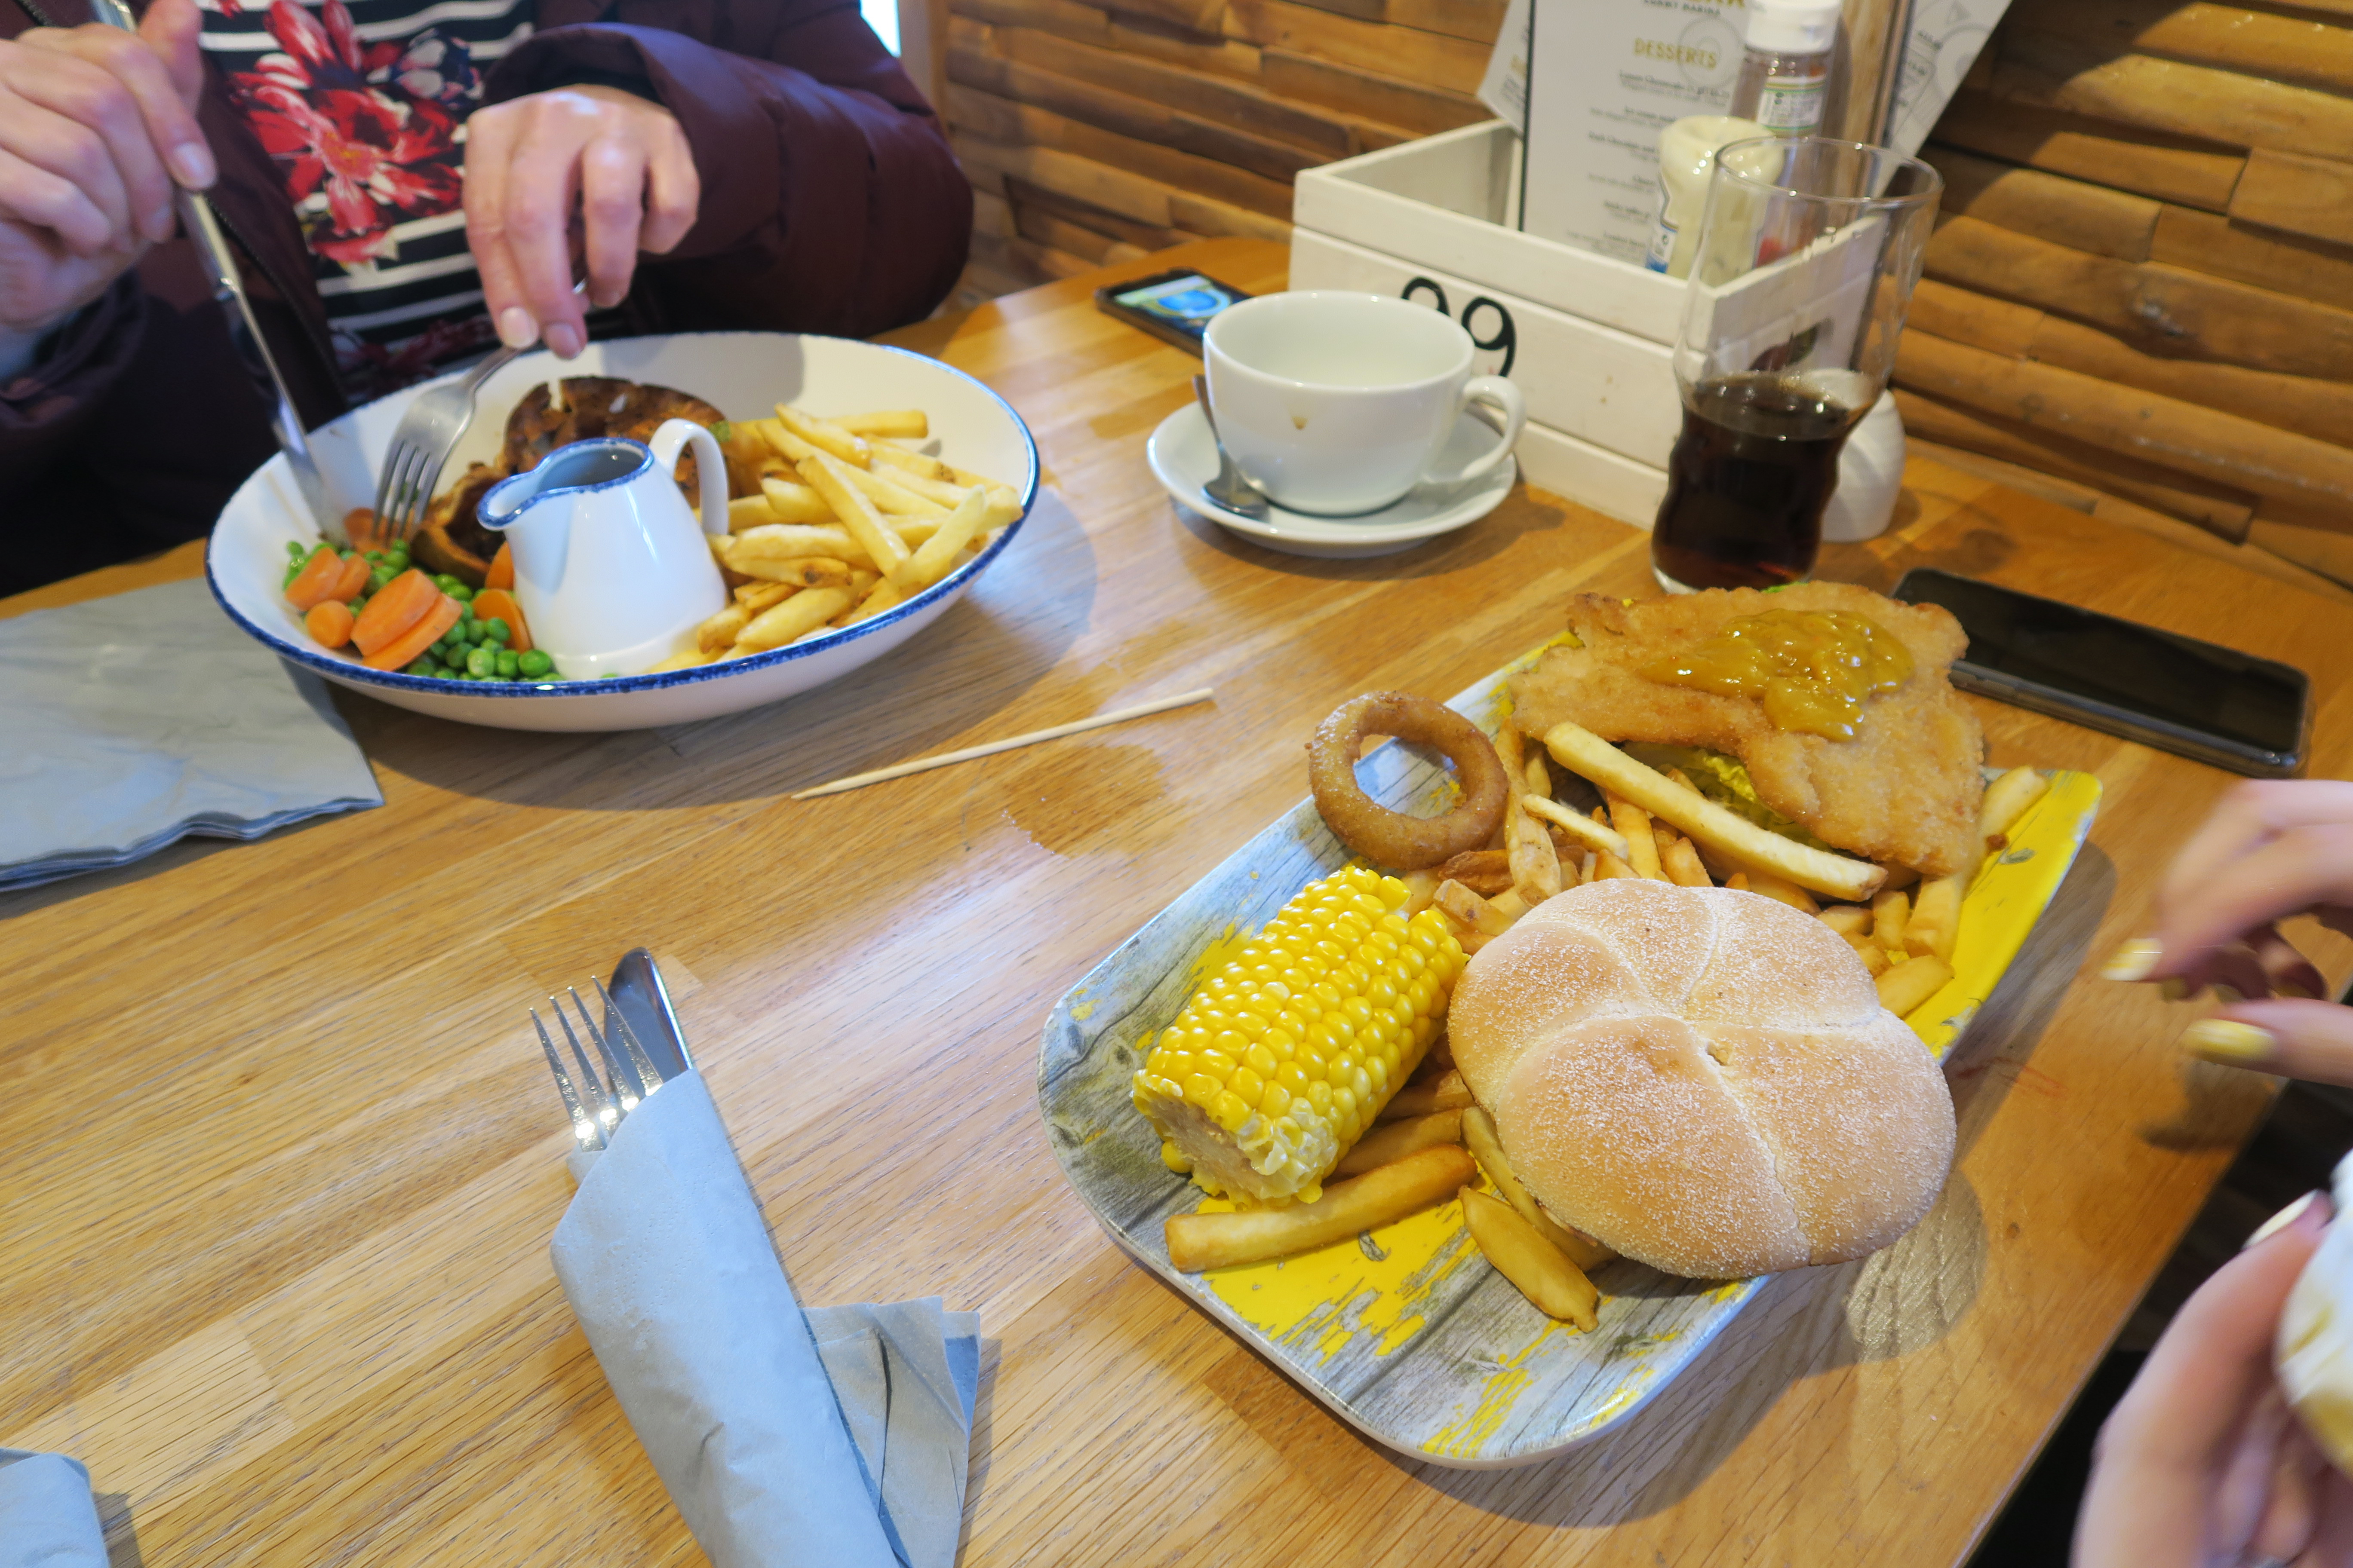
M 802 1314 L 696 1072 L 574 1173 L 555 1276 L 711 1561 L 953 1568 L 976 1314 Z

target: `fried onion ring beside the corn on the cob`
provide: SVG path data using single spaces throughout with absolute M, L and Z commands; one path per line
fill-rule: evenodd
M 1407 816 L 1377 804 L 1355 783 L 1365 736 L 1395 736 L 1442 752 L 1454 764 L 1461 799 L 1445 816 Z M 1480 726 L 1412 691 L 1367 691 L 1334 708 L 1308 741 L 1308 788 L 1332 835 L 1393 872 L 1419 872 L 1466 849 L 1485 849 L 1511 804 L 1504 759 Z

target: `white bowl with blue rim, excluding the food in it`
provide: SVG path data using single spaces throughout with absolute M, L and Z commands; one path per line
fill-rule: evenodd
M 941 616 L 979 574 L 1012 545 L 1038 498 L 1038 444 L 1002 397 L 960 369 L 925 355 L 781 331 L 687 331 L 591 343 L 576 360 L 522 355 L 492 376 L 475 418 L 442 470 L 442 487 L 466 463 L 492 461 L 506 414 L 534 386 L 558 376 L 619 376 L 692 393 L 727 418 L 765 418 L 779 402 L 812 414 L 922 409 L 932 421 L 925 451 L 958 468 L 1002 480 L 1021 498 L 1021 517 L 974 559 L 871 621 L 809 642 L 722 665 L 626 675 L 593 682 L 459 682 L 400 670 L 369 670 L 348 649 L 322 649 L 285 599 L 287 545 L 311 545 L 318 527 L 301 505 L 282 456 L 256 468 L 228 498 L 205 550 L 212 595 L 247 635 L 285 658 L 367 696 L 464 724 L 494 729 L 652 729 L 779 703 L 889 654 Z M 445 376 L 442 381 L 452 381 Z M 336 510 L 369 505 L 376 468 L 412 397 L 438 381 L 355 409 L 311 433 L 311 449 Z

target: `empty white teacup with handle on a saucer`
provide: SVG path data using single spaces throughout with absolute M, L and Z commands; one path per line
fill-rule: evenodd
M 1471 334 L 1386 294 L 1301 289 L 1221 310 L 1205 334 L 1209 407 L 1235 465 L 1275 505 L 1351 517 L 1417 484 L 1461 484 L 1520 440 L 1527 404 L 1471 374 Z M 1492 404 L 1504 435 L 1464 468 L 1431 465 L 1461 411 Z

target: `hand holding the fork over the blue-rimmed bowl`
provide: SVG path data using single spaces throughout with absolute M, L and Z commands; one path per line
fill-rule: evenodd
M 508 348 L 544 336 L 569 360 L 588 343 L 572 292 L 574 209 L 588 301 L 602 308 L 628 294 L 638 252 L 675 247 L 699 207 L 678 120 L 616 87 L 534 92 L 466 120 L 466 240 Z

